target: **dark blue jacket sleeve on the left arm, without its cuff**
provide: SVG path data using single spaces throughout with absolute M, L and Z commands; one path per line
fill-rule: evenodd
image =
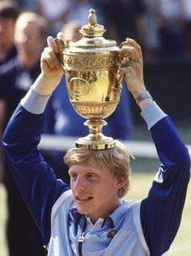
M 19 105 L 5 129 L 2 145 L 14 180 L 46 245 L 52 206 L 69 188 L 55 178 L 53 170 L 38 152 L 42 121 L 42 114 L 32 114 Z

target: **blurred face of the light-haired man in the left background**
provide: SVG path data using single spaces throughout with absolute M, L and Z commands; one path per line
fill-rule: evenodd
M 20 56 L 30 58 L 40 54 L 43 40 L 35 22 L 16 26 L 14 39 Z

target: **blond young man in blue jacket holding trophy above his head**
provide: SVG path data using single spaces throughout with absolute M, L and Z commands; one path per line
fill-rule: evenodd
M 128 54 L 132 65 L 120 73 L 142 109 L 162 164 L 148 198 L 126 202 L 121 198 L 129 188 L 130 163 L 124 146 L 67 152 L 71 189 L 56 180 L 38 152 L 43 110 L 62 75 L 55 40 L 49 38 L 48 44 L 42 73 L 9 121 L 3 148 L 49 255 L 162 255 L 181 221 L 190 158 L 171 119 L 146 91 L 140 46 L 127 39 L 120 51 Z

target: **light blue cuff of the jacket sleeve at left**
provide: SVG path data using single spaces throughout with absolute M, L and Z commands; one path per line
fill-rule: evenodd
M 38 92 L 30 90 L 26 93 L 26 96 L 21 99 L 20 104 L 32 114 L 42 114 L 50 95 L 40 95 Z

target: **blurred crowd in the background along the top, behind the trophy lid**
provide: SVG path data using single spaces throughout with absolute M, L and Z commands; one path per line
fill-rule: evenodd
M 14 0 L 20 11 L 34 11 L 49 22 L 55 35 L 68 21 L 87 22 L 95 8 L 107 38 L 118 43 L 136 39 L 148 60 L 191 57 L 190 0 Z

